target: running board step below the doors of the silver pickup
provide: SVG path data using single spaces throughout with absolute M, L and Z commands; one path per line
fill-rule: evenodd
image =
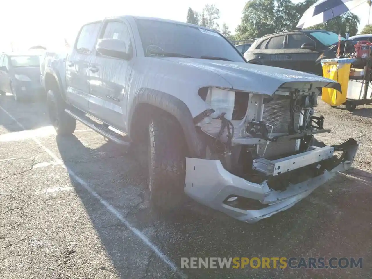
M 71 115 L 73 118 L 75 118 L 77 121 L 80 121 L 84 125 L 88 126 L 89 128 L 96 131 L 98 134 L 103 135 L 103 137 L 108 138 L 109 140 L 112 140 L 113 142 L 116 142 L 120 145 L 125 145 L 129 147 L 130 143 L 126 138 L 122 135 L 119 135 L 118 133 L 110 130 L 107 125 L 98 124 L 97 122 L 93 121 L 86 115 L 83 115 L 83 113 L 74 113 L 71 112 L 71 110 L 65 109 L 65 112 Z

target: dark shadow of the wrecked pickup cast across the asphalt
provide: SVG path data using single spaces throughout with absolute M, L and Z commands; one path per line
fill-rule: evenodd
M 155 243 L 177 266 L 181 257 L 363 257 L 372 260 L 370 173 L 350 170 L 339 175 L 291 209 L 256 224 L 245 224 L 195 202 L 179 211 L 158 214 L 148 206 L 145 195 L 146 170 L 106 142 L 99 148 L 85 147 L 74 135 L 57 136 L 62 160 L 89 183 L 103 199 Z M 96 157 L 95 157 L 96 156 Z M 368 184 L 368 183 L 369 184 Z M 108 220 L 106 211 L 90 193 L 71 177 L 102 245 L 121 278 L 176 278 L 151 253 L 148 258 L 126 248 L 125 226 Z M 367 184 L 365 184 L 367 183 Z M 105 224 L 105 225 L 103 225 Z M 111 232 L 107 233 L 107 227 Z M 123 236 L 124 235 L 124 236 Z M 342 243 L 342 245 L 340 245 Z M 132 255 L 133 259 L 129 259 Z M 151 256 L 152 255 L 152 256 Z M 136 259 L 140 259 L 137 260 Z M 139 263 L 138 263 L 139 261 Z M 133 266 L 134 265 L 134 266 Z M 142 270 L 142 274 L 136 273 Z M 148 267 L 148 268 L 147 268 Z M 104 268 L 104 267 L 103 267 Z M 102 269 L 102 268 L 101 268 Z M 163 267 L 164 269 L 164 267 Z M 147 270 L 147 271 L 146 271 Z M 186 269 L 189 278 L 372 278 L 371 264 L 363 269 Z M 138 271 L 137 271 L 138 272 Z M 147 272 L 147 273 L 146 273 Z M 325 276 L 325 277 L 324 277 Z

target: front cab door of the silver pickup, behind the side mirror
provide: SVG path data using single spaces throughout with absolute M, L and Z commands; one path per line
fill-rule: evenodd
M 103 23 L 100 39 L 120 39 L 132 52 L 132 42 L 124 20 Z M 126 132 L 126 104 L 132 60 L 109 57 L 96 50 L 89 65 L 89 113 L 123 132 Z

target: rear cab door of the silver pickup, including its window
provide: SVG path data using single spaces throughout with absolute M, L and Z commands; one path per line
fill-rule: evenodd
M 101 22 L 84 25 L 71 54 L 66 58 L 66 95 L 68 102 L 85 112 L 89 102 L 89 62 Z

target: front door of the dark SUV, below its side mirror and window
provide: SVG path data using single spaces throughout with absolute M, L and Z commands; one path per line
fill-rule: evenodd
M 314 50 L 301 49 L 302 44 L 312 44 L 314 45 Z M 284 44 L 284 51 L 290 68 L 306 73 L 318 73 L 319 65 L 315 65 L 315 61 L 320 53 L 315 51 L 315 47 L 315 41 L 303 33 L 288 34 Z

